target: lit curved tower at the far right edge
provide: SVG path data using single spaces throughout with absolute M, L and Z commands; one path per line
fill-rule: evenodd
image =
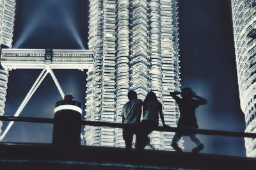
M 256 132 L 256 0 L 232 0 L 237 77 L 246 132 Z M 245 138 L 246 155 L 256 157 L 256 139 Z

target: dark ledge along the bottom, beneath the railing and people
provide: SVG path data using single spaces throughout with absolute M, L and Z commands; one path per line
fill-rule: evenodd
M 256 158 L 51 144 L 0 144 L 0 169 L 255 169 Z

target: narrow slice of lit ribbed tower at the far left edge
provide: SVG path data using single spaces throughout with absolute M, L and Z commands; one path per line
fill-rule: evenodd
M 15 0 L 0 0 L 0 46 L 12 47 Z M 6 90 L 8 82 L 8 70 L 0 68 L 0 116 L 4 114 Z M 0 133 L 2 131 L 0 121 Z

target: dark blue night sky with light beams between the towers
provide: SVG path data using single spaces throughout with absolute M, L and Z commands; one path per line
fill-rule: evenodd
M 87 49 L 87 0 L 19 0 L 16 8 L 14 48 Z M 189 86 L 208 100 L 197 109 L 199 127 L 243 132 L 230 1 L 179 1 L 179 33 L 182 88 Z M 10 72 L 6 115 L 15 113 L 40 71 Z M 85 102 L 85 71 L 54 73 L 65 93 Z M 53 118 L 58 100 L 61 96 L 48 75 L 20 116 Z M 52 125 L 15 123 L 4 141 L 51 143 L 51 135 Z M 203 153 L 245 155 L 243 138 L 198 136 L 205 144 Z M 191 150 L 195 145 L 184 139 L 186 151 Z

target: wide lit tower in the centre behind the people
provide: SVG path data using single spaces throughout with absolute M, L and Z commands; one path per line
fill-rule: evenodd
M 175 127 L 179 109 L 170 91 L 180 87 L 177 0 L 90 0 L 86 120 L 121 123 L 122 106 L 133 89 L 163 104 L 164 120 Z M 124 146 L 122 129 L 86 127 L 86 144 Z M 170 150 L 173 134 L 152 132 L 154 148 Z

